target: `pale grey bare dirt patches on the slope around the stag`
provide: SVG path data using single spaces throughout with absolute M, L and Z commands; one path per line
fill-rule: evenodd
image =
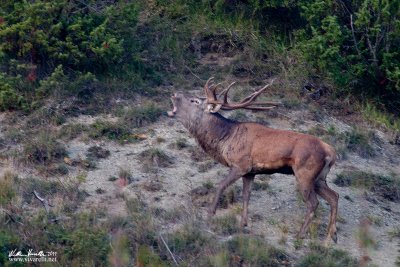
M 307 113 L 306 110 L 292 111 L 287 115 L 296 118 L 305 113 Z M 93 118 L 83 117 L 80 119 L 81 121 L 92 121 Z M 297 126 L 282 118 L 267 120 L 272 127 L 291 130 L 304 130 L 317 123 L 309 121 L 307 124 Z M 337 129 L 342 130 L 351 128 L 334 118 L 324 118 L 322 124 L 326 127 L 334 125 Z M 227 169 L 214 164 L 209 158 L 202 162 L 194 160 L 192 153 L 200 148 L 183 126 L 173 119 L 163 118 L 160 122 L 144 129 L 143 133 L 147 139 L 135 144 L 117 145 L 105 141 L 82 141 L 79 138 L 68 143 L 68 151 L 72 159 L 84 157 L 87 149 L 93 145 L 99 145 L 111 152 L 110 157 L 97 163 L 96 169 L 88 171 L 82 189 L 90 196 L 86 198 L 81 208 L 96 206 L 111 215 L 121 215 L 125 213 L 125 206 L 122 200 L 116 196 L 125 194 L 129 197 L 140 197 L 151 207 L 166 211 L 178 210 L 186 214 L 195 212 L 204 221 L 207 221 L 206 207 L 204 207 L 206 205 L 199 204 L 191 192 L 205 182 L 216 185 L 227 173 Z M 349 169 L 400 175 L 398 147 L 385 141 L 384 133 L 378 132 L 377 134 L 382 137 L 380 143 L 382 152 L 378 156 L 364 159 L 350 153 L 346 159 L 339 159 L 328 175 L 329 185 L 341 196 L 338 222 L 339 241 L 333 246 L 360 258 L 361 250 L 358 245 L 360 222 L 363 218 L 372 218 L 379 222 L 370 226 L 370 234 L 376 241 L 376 247 L 369 250 L 372 263 L 378 266 L 394 266 L 399 247 L 396 240 L 391 240 L 388 232 L 394 227 L 400 226 L 400 206 L 394 202 L 374 198 L 370 192 L 350 187 L 337 187 L 331 182 L 336 174 Z M 160 138 L 162 138 L 161 142 Z M 187 140 L 187 146 L 177 149 L 174 144 L 181 138 Z M 164 151 L 173 159 L 173 164 L 167 168 L 145 170 L 140 153 L 149 148 Z M 204 169 L 202 168 L 204 166 L 208 167 Z M 121 169 L 132 173 L 132 182 L 126 187 L 120 186 L 118 181 L 109 180 L 110 177 L 117 176 Z M 296 193 L 295 178 L 279 174 L 262 178 L 264 182 L 267 181 L 268 190 L 253 190 L 247 231 L 264 236 L 271 244 L 283 248 L 294 258 L 298 258 L 305 253 L 306 247 L 296 247 L 295 241 L 295 235 L 305 215 L 305 206 Z M 237 187 L 241 187 L 241 182 L 238 181 L 236 184 Z M 96 190 L 99 189 L 104 190 L 104 193 L 96 193 Z M 212 193 L 208 194 L 206 199 L 211 197 Z M 239 196 L 239 199 L 228 209 L 219 208 L 216 216 L 240 209 L 240 200 Z M 328 214 L 329 206 L 320 200 L 318 215 L 314 219 L 315 233 L 312 239 L 321 241 L 324 239 Z M 182 220 L 178 220 L 165 225 L 164 229 L 160 230 L 170 231 L 182 223 Z M 221 239 L 223 238 L 227 237 L 221 237 Z M 309 239 L 304 241 L 305 244 L 307 242 Z

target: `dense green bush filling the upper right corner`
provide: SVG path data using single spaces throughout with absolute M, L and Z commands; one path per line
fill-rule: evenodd
M 304 2 L 299 46 L 339 90 L 372 96 L 391 111 L 400 101 L 400 4 L 396 1 Z

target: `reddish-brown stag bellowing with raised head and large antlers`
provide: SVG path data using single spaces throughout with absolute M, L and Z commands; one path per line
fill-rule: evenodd
M 176 117 L 188 129 L 205 152 L 230 168 L 229 174 L 218 185 L 209 215 L 215 214 L 222 192 L 242 177 L 241 226 L 244 227 L 247 225 L 248 204 L 254 176 L 273 173 L 294 174 L 298 189 L 307 205 L 307 214 L 298 237 L 305 237 L 318 207 L 317 195 L 319 195 L 331 207 L 326 241 L 332 238 L 336 243 L 339 195 L 326 183 L 326 176 L 335 163 L 335 150 L 311 135 L 271 129 L 252 122 L 236 122 L 217 113 L 220 109 L 274 108 L 279 103 L 254 102 L 272 82 L 239 103 L 229 103 L 228 92 L 233 83 L 218 94 L 217 88 L 220 84 L 215 85 L 212 80 L 213 78 L 210 78 L 204 86 L 206 98 L 175 93 L 171 97 L 173 110 L 168 112 L 170 117 Z

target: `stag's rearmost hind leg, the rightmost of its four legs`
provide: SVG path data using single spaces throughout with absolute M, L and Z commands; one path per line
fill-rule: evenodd
M 331 206 L 331 215 L 328 225 L 328 236 L 326 237 L 325 242 L 328 243 L 329 239 L 332 238 L 332 240 L 337 243 L 336 217 L 338 210 L 339 194 L 328 187 L 325 177 L 324 179 L 320 179 L 317 181 L 315 190 L 317 194 L 325 199 L 329 203 L 329 206 Z

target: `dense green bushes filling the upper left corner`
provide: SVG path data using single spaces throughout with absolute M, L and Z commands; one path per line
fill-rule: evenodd
M 138 71 L 137 16 L 138 4 L 123 1 L 2 1 L 0 110 L 35 106 L 54 91 L 66 93 L 70 84 L 79 87 L 120 67 Z

